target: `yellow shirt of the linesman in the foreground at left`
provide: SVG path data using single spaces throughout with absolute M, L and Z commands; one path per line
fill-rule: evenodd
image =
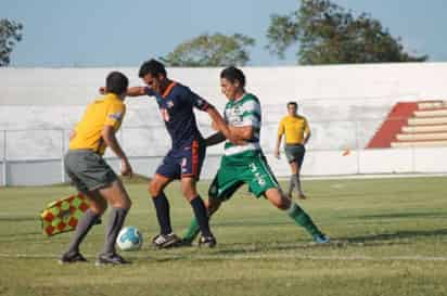
M 75 127 L 75 136 L 69 141 L 69 150 L 91 150 L 104 154 L 106 144 L 101 132 L 105 126 L 119 129 L 126 114 L 126 105 L 114 93 L 94 100 L 87 106 L 82 119 Z

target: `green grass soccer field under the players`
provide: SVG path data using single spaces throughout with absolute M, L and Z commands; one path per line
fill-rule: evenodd
M 133 207 L 126 224 L 138 227 L 145 244 L 123 254 L 133 261 L 126 267 L 94 266 L 104 223 L 82 245 L 89 263 L 56 262 L 71 233 L 46 237 L 38 214 L 73 189 L 2 188 L 0 295 L 447 295 L 446 181 L 305 181 L 309 198 L 299 204 L 331 236 L 324 246 L 241 190 L 213 218 L 216 248 L 167 250 L 149 243 L 156 218 L 146 184 L 133 182 L 127 185 Z M 181 234 L 192 210 L 178 184 L 167 195 Z

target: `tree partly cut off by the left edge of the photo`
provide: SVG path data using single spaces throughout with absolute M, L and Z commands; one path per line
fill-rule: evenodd
M 22 40 L 23 25 L 7 18 L 0 20 L 0 67 L 10 64 L 10 54 L 15 42 Z

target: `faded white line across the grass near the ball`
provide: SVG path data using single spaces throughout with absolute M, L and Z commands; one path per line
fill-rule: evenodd
M 0 258 L 36 258 L 36 259 L 56 259 L 60 255 L 54 254 L 0 254 Z M 94 258 L 95 256 L 86 256 L 88 258 Z M 126 256 L 125 256 L 126 257 Z M 299 254 L 184 254 L 184 255 L 169 255 L 164 254 L 162 256 L 155 257 L 151 254 L 138 255 L 129 254 L 127 257 L 129 259 L 187 259 L 192 260 L 210 260 L 210 259 L 231 259 L 231 260 L 247 260 L 247 259 L 302 259 L 302 260 L 323 260 L 323 261 L 447 261 L 447 257 L 444 256 L 314 256 L 314 255 L 299 255 Z

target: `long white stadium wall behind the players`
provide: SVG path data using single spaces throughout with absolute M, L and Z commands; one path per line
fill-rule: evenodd
M 112 69 L 141 85 L 132 68 L 0 68 L 1 184 L 48 184 L 66 180 L 61 156 L 68 132 Z M 169 76 L 224 108 L 219 68 L 170 68 Z M 273 171 L 289 175 L 284 158 L 271 157 L 278 121 L 285 103 L 298 101 L 312 138 L 305 176 L 446 172 L 446 149 L 365 150 L 397 102 L 439 100 L 447 95 L 447 63 L 353 66 L 247 67 L 247 90 L 263 104 L 261 145 Z M 170 140 L 150 98 L 127 100 L 128 114 L 119 133 L 136 171 L 151 176 Z M 196 113 L 210 134 L 206 114 Z M 203 178 L 216 170 L 221 146 L 212 147 Z M 107 154 L 107 157 L 113 155 Z M 440 157 L 440 158 L 438 158 Z M 110 158 L 117 168 L 118 163 Z

